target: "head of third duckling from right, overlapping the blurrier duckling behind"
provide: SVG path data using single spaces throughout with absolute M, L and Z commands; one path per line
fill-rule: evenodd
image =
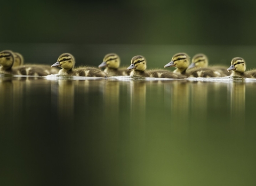
M 178 53 L 178 54 L 175 54 L 172 57 L 171 62 L 164 65 L 164 67 L 166 68 L 166 67 L 174 66 L 180 71 L 184 71 L 187 69 L 189 64 L 190 64 L 189 56 L 186 53 Z

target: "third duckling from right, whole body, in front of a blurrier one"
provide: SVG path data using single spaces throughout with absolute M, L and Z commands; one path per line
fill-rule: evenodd
M 164 67 L 174 66 L 176 70 L 174 73 L 186 75 L 186 77 L 203 77 L 203 78 L 211 78 L 211 77 L 225 77 L 226 74 L 221 73 L 219 71 L 215 71 L 214 69 L 209 68 L 201 68 L 188 70 L 187 68 L 190 64 L 189 56 L 186 53 L 178 53 L 173 55 L 170 63 L 167 63 Z

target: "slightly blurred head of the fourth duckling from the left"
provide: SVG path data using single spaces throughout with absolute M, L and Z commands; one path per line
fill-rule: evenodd
M 111 69 L 118 69 L 120 65 L 120 57 L 117 54 L 110 53 L 105 55 L 103 62 L 98 66 L 99 69 L 109 67 Z

